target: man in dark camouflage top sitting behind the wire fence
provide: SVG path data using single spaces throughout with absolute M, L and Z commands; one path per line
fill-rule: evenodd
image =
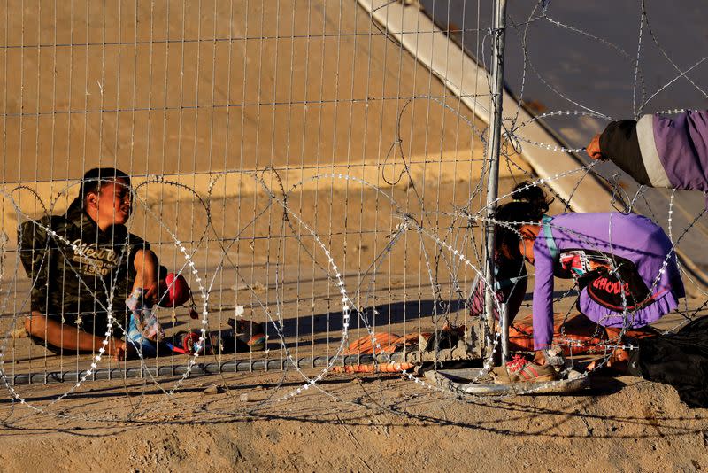
M 35 343 L 54 353 L 95 353 L 112 332 L 109 310 L 127 327 L 129 291 L 142 288 L 145 299 L 157 300 L 158 258 L 128 233 L 131 211 L 128 175 L 95 168 L 64 215 L 19 226 L 20 260 L 33 283 L 25 328 Z M 124 358 L 131 347 L 114 335 L 106 351 Z

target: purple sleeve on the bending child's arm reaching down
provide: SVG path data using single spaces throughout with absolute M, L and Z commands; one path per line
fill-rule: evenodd
M 553 260 L 543 229 L 534 244 L 534 268 L 534 350 L 543 350 L 553 342 Z

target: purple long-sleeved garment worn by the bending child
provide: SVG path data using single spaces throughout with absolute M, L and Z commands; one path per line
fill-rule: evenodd
M 653 301 L 634 312 L 627 311 L 627 322 L 632 328 L 657 321 L 673 311 L 678 306 L 678 299 L 685 296 L 675 254 L 668 258 L 666 270 L 657 281 L 672 244 L 664 230 L 646 217 L 635 213 L 562 213 L 550 220 L 550 232 L 558 248 L 555 258 L 551 256 L 553 251 L 549 248 L 543 227 L 534 244 L 535 350 L 547 348 L 552 343 L 553 278 L 554 274 L 568 277 L 560 267 L 560 260 L 567 258 L 573 250 L 604 252 L 634 262 Z M 625 317 L 621 308 L 613 311 L 598 304 L 590 297 L 589 287 L 581 290 L 581 313 L 605 327 L 622 327 Z

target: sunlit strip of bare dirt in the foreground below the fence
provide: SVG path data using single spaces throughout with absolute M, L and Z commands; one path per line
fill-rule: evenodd
M 397 376 L 338 375 L 279 400 L 302 384 L 210 376 L 168 396 L 150 382 L 102 382 L 47 414 L 4 400 L 0 460 L 8 471 L 708 468 L 708 410 L 639 378 L 597 378 L 567 396 L 453 399 Z M 28 400 L 47 406 L 65 389 L 35 386 Z

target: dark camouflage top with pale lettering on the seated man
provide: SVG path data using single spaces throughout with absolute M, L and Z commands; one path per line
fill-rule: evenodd
M 77 314 L 107 319 L 111 292 L 114 316 L 124 314 L 135 281 L 135 252 L 150 248 L 124 225 L 102 231 L 81 202 L 64 215 L 22 223 L 18 241 L 20 260 L 33 283 L 32 310 L 72 324 Z

